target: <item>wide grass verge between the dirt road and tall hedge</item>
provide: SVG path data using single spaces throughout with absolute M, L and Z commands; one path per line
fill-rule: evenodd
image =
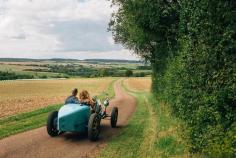
M 190 157 L 178 134 L 180 122 L 171 117 L 168 107 L 148 92 L 124 89 L 137 99 L 136 111 L 99 157 Z

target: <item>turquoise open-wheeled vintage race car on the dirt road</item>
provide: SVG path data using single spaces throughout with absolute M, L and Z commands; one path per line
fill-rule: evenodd
M 47 120 L 47 132 L 50 136 L 58 136 L 64 132 L 86 132 L 91 141 L 96 141 L 100 134 L 101 119 L 109 118 L 111 127 L 115 128 L 118 120 L 118 108 L 113 107 L 111 115 L 106 113 L 109 106 L 107 97 L 103 104 L 100 99 L 94 97 L 95 106 L 91 109 L 85 104 L 66 104 L 59 111 L 49 114 Z M 102 110 L 102 106 L 105 110 Z

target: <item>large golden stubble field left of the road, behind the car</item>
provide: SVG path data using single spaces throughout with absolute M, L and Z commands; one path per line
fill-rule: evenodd
M 0 118 L 64 102 L 73 88 L 87 89 L 97 95 L 114 78 L 2 81 L 0 82 Z

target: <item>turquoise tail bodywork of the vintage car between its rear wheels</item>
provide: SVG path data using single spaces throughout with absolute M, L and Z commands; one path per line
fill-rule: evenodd
M 58 129 L 63 132 L 85 132 L 90 108 L 80 104 L 67 104 L 58 112 Z

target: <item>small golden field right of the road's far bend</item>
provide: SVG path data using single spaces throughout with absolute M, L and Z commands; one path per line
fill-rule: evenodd
M 134 91 L 145 91 L 149 92 L 151 89 L 151 78 L 143 77 L 143 78 L 128 78 L 124 81 L 124 85 L 131 90 Z

